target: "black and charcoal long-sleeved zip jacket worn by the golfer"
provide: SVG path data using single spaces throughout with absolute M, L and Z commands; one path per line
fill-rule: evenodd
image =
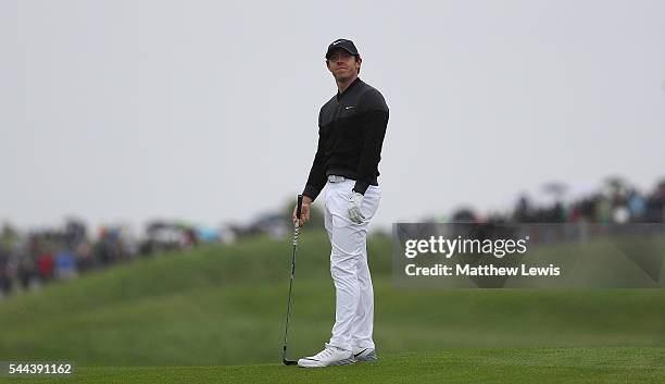
M 387 125 L 384 96 L 360 78 L 334 96 L 318 113 L 318 147 L 303 195 L 314 200 L 328 175 L 354 179 L 353 190 L 361 194 L 378 185 Z

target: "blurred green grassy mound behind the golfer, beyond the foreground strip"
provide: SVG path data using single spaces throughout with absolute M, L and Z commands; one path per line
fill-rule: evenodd
M 387 356 L 386 364 L 400 361 L 406 351 L 431 351 L 423 356 L 436 360 L 454 359 L 457 352 L 452 350 L 459 348 L 665 346 L 663 290 L 401 289 L 391 281 L 390 246 L 381 237 L 368 245 L 375 339 L 379 354 Z M 324 233 L 301 236 L 292 357 L 318 351 L 329 337 L 335 293 L 328 247 Z M 10 297 L 0 302 L 0 361 L 57 359 L 79 366 L 280 361 L 290 251 L 288 239 L 202 247 Z M 620 348 L 598 350 L 620 355 L 625 350 Z M 511 354 L 518 356 L 519 350 Z

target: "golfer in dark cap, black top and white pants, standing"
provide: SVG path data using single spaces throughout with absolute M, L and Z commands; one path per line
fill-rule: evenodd
M 302 193 L 300 225 L 310 219 L 310 205 L 326 187 L 325 227 L 337 296 L 335 325 L 324 350 L 300 359 L 300 367 L 376 360 L 366 238 L 381 198 L 377 177 L 388 106 L 378 90 L 357 77 L 361 64 L 351 40 L 338 39 L 328 47 L 326 65 L 337 83 L 337 94 L 318 113 L 318 147 Z

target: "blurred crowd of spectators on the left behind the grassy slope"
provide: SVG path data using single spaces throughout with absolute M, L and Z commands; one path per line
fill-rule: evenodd
M 109 265 L 205 243 L 229 243 L 235 233 L 179 223 L 152 222 L 145 235 L 126 226 L 104 226 L 96 236 L 78 220 L 62 227 L 20 233 L 4 224 L 0 233 L 0 297 L 75 277 Z

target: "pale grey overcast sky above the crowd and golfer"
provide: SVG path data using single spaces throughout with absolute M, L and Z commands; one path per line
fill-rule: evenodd
M 247 222 L 302 190 L 324 53 L 390 107 L 375 222 L 665 176 L 663 1 L 0 1 L 0 222 Z

